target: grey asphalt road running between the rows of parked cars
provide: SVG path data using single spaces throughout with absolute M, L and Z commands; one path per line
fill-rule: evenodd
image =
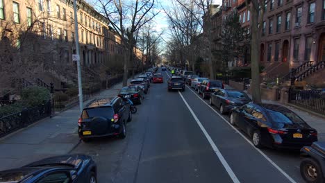
M 81 142 L 72 153 L 94 158 L 100 183 L 303 182 L 299 153 L 254 148 L 206 102 L 189 87 L 167 92 L 166 82 L 151 84 L 126 139 Z

